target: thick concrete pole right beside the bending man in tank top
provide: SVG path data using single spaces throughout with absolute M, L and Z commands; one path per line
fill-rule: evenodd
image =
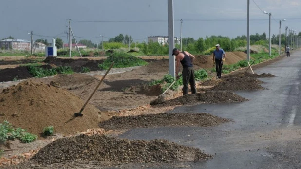
M 173 29 L 173 0 L 167 0 L 168 9 L 168 39 L 169 39 L 169 74 L 175 78 L 175 57 L 172 55 L 174 48 L 174 29 Z

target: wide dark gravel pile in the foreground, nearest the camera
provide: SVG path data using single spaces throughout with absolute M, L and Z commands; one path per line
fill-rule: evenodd
M 200 149 L 178 145 L 167 140 L 128 140 L 106 136 L 62 138 L 41 150 L 32 158 L 39 164 L 61 163 L 81 159 L 111 163 L 160 163 L 200 161 L 211 158 Z

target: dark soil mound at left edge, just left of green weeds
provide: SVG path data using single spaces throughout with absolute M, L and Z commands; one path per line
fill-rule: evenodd
M 30 77 L 33 76 L 28 72 L 26 66 L 0 70 L 0 82 L 26 79 Z

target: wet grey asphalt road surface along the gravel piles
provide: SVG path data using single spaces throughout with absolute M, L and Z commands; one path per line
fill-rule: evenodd
M 213 159 L 158 165 L 125 165 L 141 169 L 301 169 L 301 51 L 254 70 L 271 73 L 260 78 L 266 90 L 234 91 L 249 99 L 242 103 L 180 106 L 171 113 L 210 113 L 234 122 L 215 127 L 160 127 L 132 129 L 128 139 L 168 139 L 200 148 Z

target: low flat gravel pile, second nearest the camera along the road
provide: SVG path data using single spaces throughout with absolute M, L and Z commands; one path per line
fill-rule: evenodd
M 159 113 L 139 116 L 113 116 L 107 121 L 100 122 L 99 127 L 105 130 L 148 128 L 159 126 L 217 126 L 229 122 L 207 113 Z

